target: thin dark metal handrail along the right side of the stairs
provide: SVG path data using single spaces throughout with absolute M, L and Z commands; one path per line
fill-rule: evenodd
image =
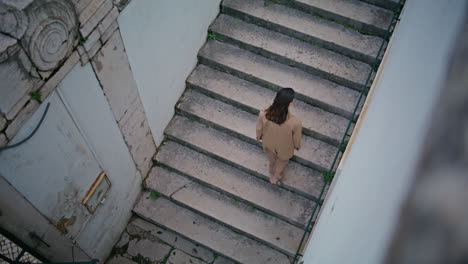
M 322 190 L 320 191 L 320 194 L 319 194 L 319 196 L 317 198 L 317 201 L 315 202 L 314 209 L 313 209 L 312 214 L 311 214 L 311 216 L 309 218 L 309 221 L 307 222 L 307 225 L 306 225 L 306 227 L 304 229 L 304 234 L 302 235 L 301 242 L 299 243 L 299 246 L 297 247 L 296 254 L 294 255 L 294 259 L 291 262 L 291 264 L 296 264 L 296 262 L 299 260 L 298 257 L 303 256 L 302 254 L 299 253 L 300 250 L 301 250 L 302 244 L 304 243 L 304 240 L 305 240 L 305 237 L 307 236 L 307 234 L 312 232 L 312 227 L 313 227 L 312 226 L 312 220 L 314 219 L 314 216 L 315 216 L 315 213 L 317 212 L 319 203 L 322 200 L 322 196 L 323 196 L 323 194 L 325 192 L 325 188 L 328 185 L 328 182 L 333 178 L 333 173 L 334 173 L 333 170 L 335 168 L 336 162 L 338 161 L 338 157 L 340 155 L 340 152 L 344 152 L 342 150 L 342 147 L 343 147 L 343 144 L 345 142 L 345 139 L 346 139 L 346 137 L 351 136 L 351 135 L 348 134 L 348 131 L 351 128 L 351 125 L 352 125 L 353 120 L 355 118 L 356 112 L 357 112 L 357 110 L 359 108 L 359 104 L 361 103 L 361 100 L 364 97 L 364 94 L 365 94 L 365 92 L 367 90 L 367 85 L 369 84 L 369 81 L 370 81 L 370 79 L 372 77 L 372 73 L 375 70 L 377 70 L 376 66 L 378 65 L 380 54 L 381 54 L 381 52 L 383 50 L 383 47 L 385 45 L 385 41 L 389 40 L 390 31 L 392 30 L 392 26 L 393 26 L 394 22 L 397 20 L 397 15 L 400 12 L 400 9 L 402 7 L 402 1 L 403 0 L 399 0 L 397 8 L 395 10 L 393 10 L 392 20 L 390 21 L 390 24 L 388 25 L 387 31 L 385 32 L 385 37 L 383 38 L 382 43 L 380 44 L 379 51 L 377 52 L 377 55 L 375 56 L 374 62 L 372 63 L 372 67 L 371 67 L 371 70 L 369 72 L 369 75 L 367 76 L 367 80 L 366 80 L 365 84 L 361 88 L 359 99 L 358 99 L 358 101 L 356 103 L 356 106 L 354 107 L 353 115 L 349 119 L 348 126 L 346 127 L 346 130 L 345 130 L 345 133 L 344 133 L 344 135 L 343 135 L 343 137 L 341 139 L 340 145 L 338 146 L 338 150 L 336 151 L 335 157 L 333 159 L 333 163 L 330 166 L 330 169 L 328 170 L 328 174 L 326 175 L 326 177 L 324 177 Z

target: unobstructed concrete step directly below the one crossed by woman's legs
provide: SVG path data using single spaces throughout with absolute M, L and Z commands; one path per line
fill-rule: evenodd
M 278 188 L 224 162 L 167 141 L 156 155 L 158 164 L 218 190 L 236 200 L 253 204 L 298 227 L 305 227 L 315 203 Z

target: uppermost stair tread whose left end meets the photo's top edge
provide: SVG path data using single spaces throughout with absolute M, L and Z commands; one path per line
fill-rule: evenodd
M 301 34 L 333 43 L 348 50 L 375 58 L 382 39 L 363 35 L 342 25 L 316 18 L 308 13 L 277 4 L 264 4 L 263 0 L 225 0 L 223 7 L 236 10 L 250 17 L 255 17 L 289 28 Z

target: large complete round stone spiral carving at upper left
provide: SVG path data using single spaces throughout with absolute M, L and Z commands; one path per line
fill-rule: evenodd
M 41 71 L 55 69 L 71 52 L 78 32 L 69 0 L 36 0 L 26 8 L 29 26 L 22 39 L 33 64 Z

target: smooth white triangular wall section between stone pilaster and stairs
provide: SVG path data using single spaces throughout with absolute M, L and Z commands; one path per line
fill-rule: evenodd
M 220 0 L 132 1 L 118 21 L 157 145 L 196 64 Z

